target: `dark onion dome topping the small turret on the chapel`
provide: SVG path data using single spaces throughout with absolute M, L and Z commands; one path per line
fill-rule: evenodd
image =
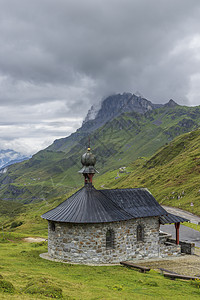
M 96 157 L 92 154 L 91 149 L 88 147 L 87 152 L 81 157 L 81 163 L 83 168 L 79 171 L 82 174 L 95 174 L 98 171 L 94 168 L 96 163 Z

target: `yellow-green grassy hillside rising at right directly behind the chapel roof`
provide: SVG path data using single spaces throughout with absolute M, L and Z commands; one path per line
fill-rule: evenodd
M 177 137 L 150 159 L 136 160 L 124 173 L 107 172 L 96 186 L 146 187 L 161 204 L 200 215 L 200 129 Z

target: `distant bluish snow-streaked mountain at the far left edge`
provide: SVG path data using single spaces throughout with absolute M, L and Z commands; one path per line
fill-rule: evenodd
M 0 169 L 3 169 L 14 163 L 18 163 L 18 162 L 27 160 L 29 158 L 30 157 L 27 157 L 19 152 L 11 150 L 11 149 L 0 150 Z

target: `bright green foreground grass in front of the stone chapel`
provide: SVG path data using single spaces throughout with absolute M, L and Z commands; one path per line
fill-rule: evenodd
M 199 299 L 190 282 L 171 281 L 150 271 L 142 274 L 122 266 L 84 266 L 39 257 L 46 243 L 26 243 L 19 235 L 0 241 L 0 274 L 14 291 L 0 290 L 1 299 Z M 45 296 L 46 295 L 46 296 Z

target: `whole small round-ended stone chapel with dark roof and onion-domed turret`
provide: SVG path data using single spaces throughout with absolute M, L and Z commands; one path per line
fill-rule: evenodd
M 179 225 L 145 188 L 97 190 L 92 178 L 96 158 L 83 154 L 84 186 L 42 218 L 48 220 L 48 255 L 70 263 L 110 264 L 179 255 Z M 159 232 L 176 224 L 176 241 Z

